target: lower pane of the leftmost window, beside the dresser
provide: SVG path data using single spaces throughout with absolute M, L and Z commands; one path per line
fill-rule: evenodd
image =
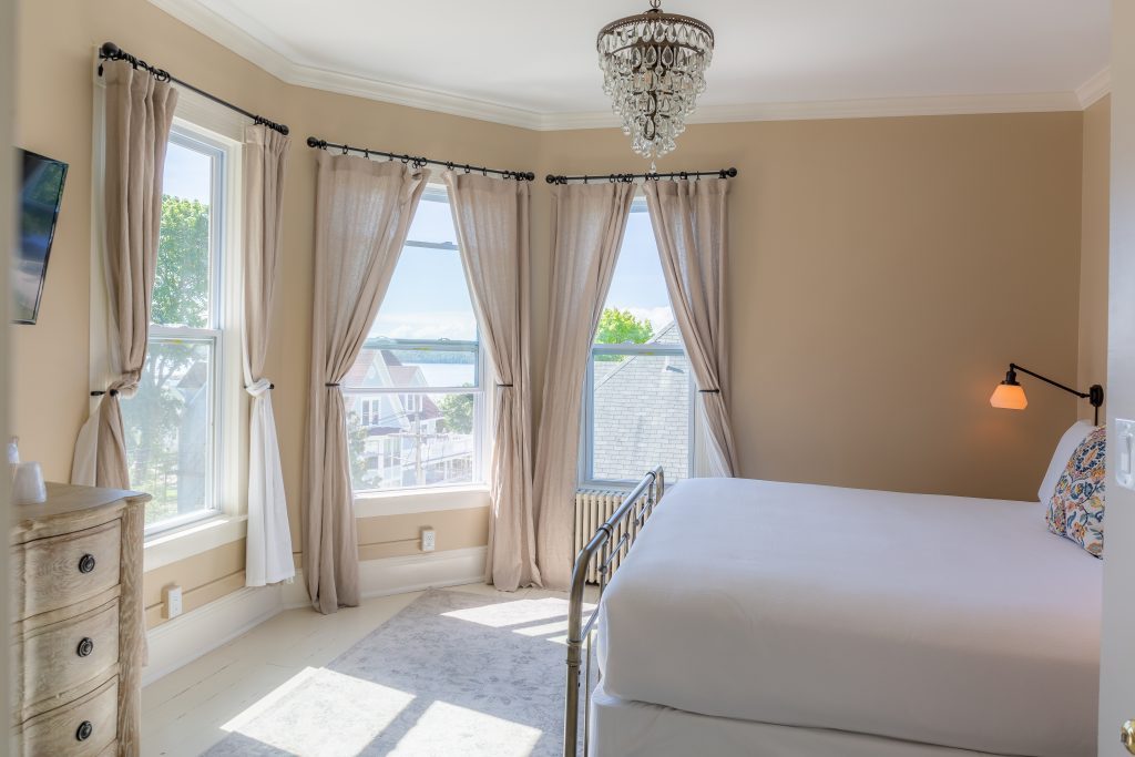
M 211 339 L 151 339 L 138 392 L 123 401 L 131 487 L 146 524 L 213 506 Z

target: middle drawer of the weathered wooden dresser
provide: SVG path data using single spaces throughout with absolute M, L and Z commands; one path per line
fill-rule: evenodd
M 52 698 L 74 698 L 82 684 L 103 675 L 118 663 L 118 600 L 30 631 L 16 640 L 17 707 L 25 713 L 58 704 Z M 22 679 L 22 680 L 20 680 Z M 66 701 L 62 699 L 61 701 Z M 59 704 L 61 704 L 61 701 Z M 31 714 L 31 713 L 27 713 Z

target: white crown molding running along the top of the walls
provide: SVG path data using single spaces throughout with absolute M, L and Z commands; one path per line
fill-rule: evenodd
M 228 48 L 236 54 L 287 84 L 337 94 L 347 94 L 422 110 L 474 118 L 507 126 L 553 132 L 619 127 L 609 111 L 541 113 L 502 102 L 469 98 L 452 92 L 382 82 L 367 76 L 331 72 L 295 62 L 257 36 L 213 12 L 197 0 L 150 0 L 150 3 Z M 254 24 L 254 19 L 250 19 Z M 281 45 L 280 50 L 287 50 Z M 881 98 L 817 102 L 747 103 L 703 106 L 689 124 L 726 124 L 762 120 L 815 120 L 836 118 L 886 118 L 896 116 L 953 116 L 967 113 L 1016 113 L 1083 110 L 1110 90 L 1110 72 L 1104 69 L 1075 92 L 1026 94 L 975 94 L 947 96 Z

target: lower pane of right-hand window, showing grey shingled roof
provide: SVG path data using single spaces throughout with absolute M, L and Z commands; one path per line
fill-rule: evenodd
M 687 478 L 690 363 L 686 355 L 595 355 L 592 369 L 591 478 L 638 480 L 659 464 L 667 480 Z

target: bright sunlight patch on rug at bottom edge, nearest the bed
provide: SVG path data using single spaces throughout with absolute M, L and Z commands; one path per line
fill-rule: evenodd
M 390 755 L 461 755 L 469 754 L 470 745 L 476 743 L 478 755 L 528 757 L 540 735 L 539 729 L 446 701 L 435 701 L 398 741 Z

